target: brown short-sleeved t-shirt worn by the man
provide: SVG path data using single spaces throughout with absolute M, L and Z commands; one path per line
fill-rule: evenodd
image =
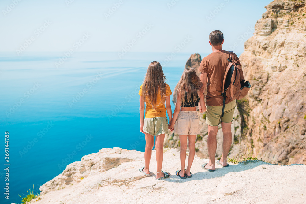
M 207 73 L 207 95 L 206 95 L 206 104 L 208 106 L 222 106 L 223 97 L 222 87 L 223 79 L 225 75 L 225 70 L 229 61 L 227 59 L 230 57 L 230 52 L 213 52 L 201 61 L 199 72 Z M 236 54 L 233 54 L 233 59 L 240 64 L 239 58 Z M 230 103 L 232 100 L 226 98 L 225 104 Z

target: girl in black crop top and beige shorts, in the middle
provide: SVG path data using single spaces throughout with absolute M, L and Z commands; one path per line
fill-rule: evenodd
M 178 83 L 177 103 L 169 129 L 179 134 L 181 150 L 181 170 L 176 175 L 181 179 L 191 178 L 190 168 L 195 155 L 196 135 L 200 134 L 199 118 L 196 106 L 200 102 L 202 111 L 206 111 L 203 85 L 194 68 L 186 68 Z M 203 113 L 201 112 L 201 113 Z M 188 165 L 185 169 L 187 138 L 189 140 Z

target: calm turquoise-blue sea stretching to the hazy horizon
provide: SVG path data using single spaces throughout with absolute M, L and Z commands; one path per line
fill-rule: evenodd
M 144 151 L 138 91 L 147 67 L 159 61 L 173 91 L 191 54 L 0 53 L 0 203 L 21 203 L 101 148 Z

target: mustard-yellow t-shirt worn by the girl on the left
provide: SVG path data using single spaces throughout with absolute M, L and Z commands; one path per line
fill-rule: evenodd
M 139 95 L 142 96 L 142 85 L 139 89 Z M 166 96 L 170 96 L 172 94 L 170 87 L 168 84 L 166 84 Z M 157 97 L 160 97 L 160 92 L 157 94 Z M 149 101 L 146 99 L 146 112 L 145 112 L 145 118 L 152 118 L 152 117 L 167 117 L 166 113 L 166 107 L 165 102 L 162 102 L 157 106 L 157 109 L 153 109 L 152 105 L 149 103 Z M 157 103 L 160 102 L 160 99 L 157 98 Z

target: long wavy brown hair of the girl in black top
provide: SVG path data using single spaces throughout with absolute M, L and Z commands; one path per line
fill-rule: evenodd
M 178 82 L 177 92 L 181 96 L 181 104 L 184 104 L 185 101 L 185 92 L 187 91 L 187 103 L 191 104 L 191 99 L 196 102 L 198 98 L 198 91 L 201 91 L 204 94 L 203 84 L 196 75 L 196 70 L 192 67 L 187 67 L 184 69 L 184 72 L 181 76 L 180 81 Z

